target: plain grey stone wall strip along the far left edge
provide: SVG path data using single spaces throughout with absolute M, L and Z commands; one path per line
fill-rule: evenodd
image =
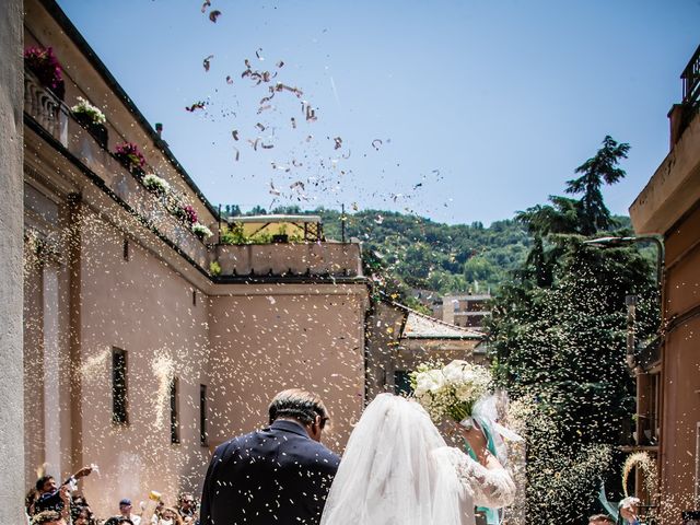
M 0 2 L 0 523 L 23 523 L 22 1 Z

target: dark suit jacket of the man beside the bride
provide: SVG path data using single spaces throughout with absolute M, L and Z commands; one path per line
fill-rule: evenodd
M 211 458 L 200 524 L 317 524 L 339 463 L 293 421 L 234 438 Z

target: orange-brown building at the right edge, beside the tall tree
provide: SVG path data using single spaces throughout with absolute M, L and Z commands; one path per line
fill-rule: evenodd
M 635 233 L 665 244 L 658 350 L 642 355 L 638 440 L 657 454 L 662 523 L 700 509 L 700 47 L 670 113 L 670 151 L 630 207 Z M 695 522 L 693 522 L 695 523 Z

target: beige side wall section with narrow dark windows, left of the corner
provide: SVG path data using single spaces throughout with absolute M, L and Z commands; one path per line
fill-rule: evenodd
M 199 443 L 199 385 L 207 384 L 208 311 L 198 292 L 133 240 L 85 212 L 81 254 L 82 455 L 101 474 L 85 494 L 117 510 L 145 490 L 196 488 L 209 451 Z M 138 233 L 138 232 L 133 232 Z M 128 352 L 129 424 L 112 423 L 112 349 Z M 180 444 L 171 444 L 168 380 L 179 378 Z

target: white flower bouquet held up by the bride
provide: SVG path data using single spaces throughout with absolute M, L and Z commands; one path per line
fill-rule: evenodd
M 491 394 L 491 383 L 487 368 L 460 360 L 445 366 L 424 363 L 411 374 L 413 396 L 435 422 L 450 417 L 467 424 L 474 405 Z

